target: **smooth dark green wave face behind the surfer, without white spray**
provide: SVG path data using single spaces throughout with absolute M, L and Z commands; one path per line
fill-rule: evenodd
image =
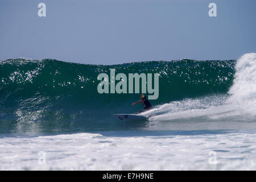
M 0 61 L 0 133 L 119 130 L 114 113 L 135 113 L 138 94 L 100 94 L 97 76 L 158 73 L 159 97 L 152 105 L 187 98 L 227 94 L 236 60 L 146 61 L 86 65 L 57 60 Z M 136 126 L 127 126 L 129 127 Z

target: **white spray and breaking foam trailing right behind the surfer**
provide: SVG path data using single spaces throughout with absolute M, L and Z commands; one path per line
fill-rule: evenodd
M 246 53 L 236 64 L 234 83 L 228 94 L 173 101 L 143 115 L 152 121 L 198 118 L 203 121 L 255 121 L 256 53 Z

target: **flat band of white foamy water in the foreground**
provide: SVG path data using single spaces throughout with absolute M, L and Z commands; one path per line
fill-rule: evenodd
M 0 139 L 0 170 L 255 170 L 255 137 L 250 132 L 6 137 Z M 40 151 L 46 164 L 38 162 Z

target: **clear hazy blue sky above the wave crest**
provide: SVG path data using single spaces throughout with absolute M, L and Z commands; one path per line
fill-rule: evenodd
M 217 17 L 208 15 L 210 2 Z M 238 59 L 256 52 L 255 18 L 255 0 L 1 0 L 0 60 Z

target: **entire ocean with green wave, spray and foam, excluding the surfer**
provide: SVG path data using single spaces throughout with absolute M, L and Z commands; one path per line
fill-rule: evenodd
M 159 97 L 97 92 L 100 73 L 158 73 Z M 0 61 L 0 170 L 255 170 L 256 53 L 89 65 Z

